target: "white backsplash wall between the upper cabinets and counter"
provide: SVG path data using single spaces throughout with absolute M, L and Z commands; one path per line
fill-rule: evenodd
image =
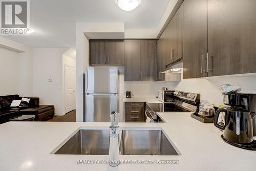
M 218 107 L 220 104 L 223 104 L 222 95 L 218 88 L 221 84 L 225 83 L 241 86 L 241 92 L 256 94 L 256 76 L 247 75 L 209 77 L 208 79 L 182 79 L 181 81 L 166 82 L 124 82 L 124 88 L 120 89 L 122 90 L 120 93 L 122 93 L 122 97 L 124 97 L 125 91 L 131 90 L 135 97 L 156 97 L 157 90 L 166 87 L 169 90 L 200 93 L 201 100 L 208 100 Z M 119 103 L 121 103 L 121 101 L 119 101 Z M 119 109 L 121 109 L 120 112 L 122 112 L 123 108 Z

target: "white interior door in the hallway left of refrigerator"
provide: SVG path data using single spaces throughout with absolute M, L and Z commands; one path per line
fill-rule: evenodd
M 75 68 L 65 65 L 65 113 L 75 109 Z

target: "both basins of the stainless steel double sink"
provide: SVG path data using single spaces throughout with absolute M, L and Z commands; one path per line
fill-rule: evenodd
M 63 144 L 63 143 L 61 143 Z M 178 149 L 159 130 L 121 130 L 120 155 L 179 155 Z M 179 153 L 179 154 L 178 154 Z M 78 130 L 53 154 L 109 155 L 109 130 Z

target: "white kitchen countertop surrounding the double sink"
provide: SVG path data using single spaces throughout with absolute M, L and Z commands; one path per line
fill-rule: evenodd
M 120 156 L 121 160 L 179 160 L 179 164 L 76 164 L 106 160 L 107 155 L 52 155 L 79 127 L 108 129 L 110 123 L 7 122 L 0 125 L 0 170 L 255 170 L 256 152 L 225 143 L 213 124 L 189 112 L 165 112 L 166 123 L 120 123 L 120 129 L 162 129 L 181 156 Z

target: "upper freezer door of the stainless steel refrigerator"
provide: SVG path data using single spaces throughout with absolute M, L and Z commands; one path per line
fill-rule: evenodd
M 86 93 L 117 93 L 117 67 L 87 67 Z

